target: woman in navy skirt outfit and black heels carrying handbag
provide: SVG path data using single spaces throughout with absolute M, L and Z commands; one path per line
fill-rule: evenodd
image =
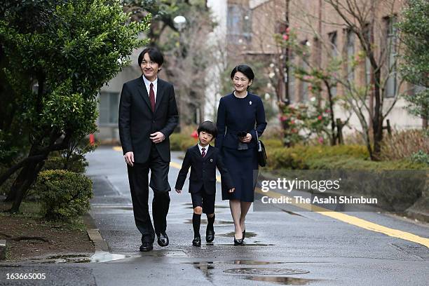
M 222 200 L 229 200 L 234 221 L 234 245 L 243 245 L 245 219 L 254 200 L 257 182 L 257 135 L 266 128 L 264 104 L 261 97 L 247 90 L 254 79 L 253 71 L 245 64 L 231 71 L 233 93 L 221 98 L 217 109 L 215 147 L 221 149 L 224 164 L 229 170 L 236 191 L 229 193 L 222 184 Z

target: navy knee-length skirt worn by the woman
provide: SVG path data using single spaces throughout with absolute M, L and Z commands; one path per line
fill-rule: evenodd
M 253 202 L 258 177 L 257 149 L 236 150 L 222 147 L 222 159 L 236 190 L 229 193 L 222 184 L 222 200 Z

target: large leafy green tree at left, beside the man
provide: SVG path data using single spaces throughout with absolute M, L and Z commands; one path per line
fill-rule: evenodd
M 131 22 L 118 0 L 6 2 L 0 11 L 0 81 L 6 88 L 0 95 L 8 99 L 9 120 L 27 130 L 28 149 L 1 174 L 0 184 L 19 171 L 6 198 L 17 212 L 48 155 L 95 131 L 97 93 L 144 43 L 137 36 L 150 15 Z M 1 120 L 0 139 L 14 129 Z

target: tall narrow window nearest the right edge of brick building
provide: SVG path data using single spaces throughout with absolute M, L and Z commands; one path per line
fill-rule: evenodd
M 395 17 L 385 19 L 386 22 L 386 56 L 388 67 L 388 78 L 386 82 L 386 97 L 395 97 L 397 91 L 397 72 L 396 72 L 396 41 L 397 31 L 395 27 Z

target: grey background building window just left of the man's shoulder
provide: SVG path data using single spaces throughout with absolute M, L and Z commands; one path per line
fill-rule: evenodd
M 119 93 L 100 92 L 98 107 L 100 111 L 98 122 L 100 125 L 118 124 Z

